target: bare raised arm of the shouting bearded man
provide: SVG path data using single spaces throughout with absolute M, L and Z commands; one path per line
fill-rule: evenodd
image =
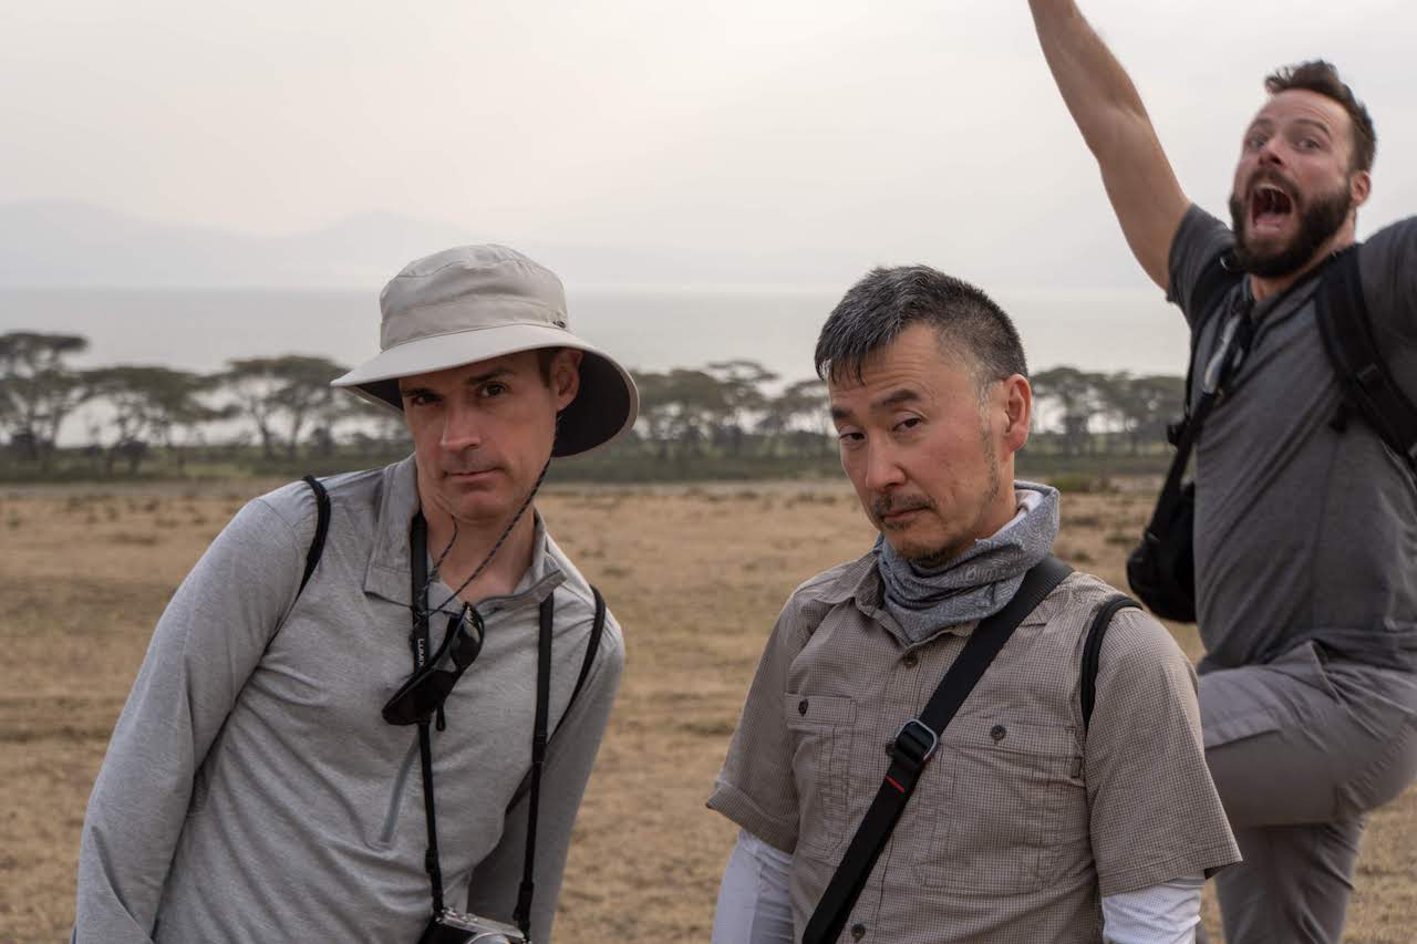
M 1190 201 L 1136 86 L 1073 0 L 1029 0 L 1043 57 L 1102 170 L 1122 234 L 1146 275 L 1168 288 L 1168 254 Z

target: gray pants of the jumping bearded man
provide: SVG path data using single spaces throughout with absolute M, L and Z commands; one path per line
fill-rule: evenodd
M 1227 944 L 1339 941 L 1363 814 L 1417 777 L 1417 676 L 1302 645 L 1203 675 L 1200 716 L 1244 856 L 1216 876 Z

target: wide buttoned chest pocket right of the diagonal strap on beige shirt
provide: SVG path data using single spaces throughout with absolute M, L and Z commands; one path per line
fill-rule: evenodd
M 1056 880 L 1087 856 L 1081 767 L 1068 726 L 956 717 L 915 794 L 921 883 L 1020 893 Z

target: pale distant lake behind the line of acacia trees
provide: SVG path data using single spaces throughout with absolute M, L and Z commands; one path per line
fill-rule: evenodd
M 632 370 L 747 357 L 812 376 L 836 291 L 577 289 L 572 327 Z M 1186 329 L 1161 292 L 998 291 L 1033 369 L 1182 373 Z M 309 353 L 354 364 L 378 349 L 378 293 L 351 291 L 0 289 L 0 332 L 85 335 L 75 363 L 211 371 L 234 357 Z

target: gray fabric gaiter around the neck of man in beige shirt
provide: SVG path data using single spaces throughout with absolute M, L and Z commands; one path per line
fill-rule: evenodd
M 1019 591 L 1023 574 L 1053 550 L 1058 534 L 1057 489 L 1032 482 L 1015 482 L 1013 488 L 1019 515 L 939 568 L 921 568 L 900 557 L 883 537 L 876 540 L 886 611 L 911 644 L 945 626 L 999 612 Z

